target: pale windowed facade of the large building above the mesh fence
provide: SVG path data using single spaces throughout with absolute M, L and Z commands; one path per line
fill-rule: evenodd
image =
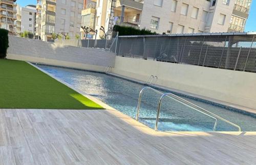
M 251 0 L 147 0 L 139 25 L 167 34 L 243 32 L 250 3 Z

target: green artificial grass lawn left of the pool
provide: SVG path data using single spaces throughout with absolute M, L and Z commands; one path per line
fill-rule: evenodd
M 0 108 L 103 109 L 28 63 L 3 59 Z

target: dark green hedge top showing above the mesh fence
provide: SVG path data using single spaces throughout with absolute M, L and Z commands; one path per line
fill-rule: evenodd
M 113 30 L 118 32 L 119 36 L 157 35 L 156 32 L 151 32 L 150 30 L 140 30 L 129 26 L 115 25 Z

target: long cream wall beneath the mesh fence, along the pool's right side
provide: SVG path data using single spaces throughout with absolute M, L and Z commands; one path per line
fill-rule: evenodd
M 159 86 L 256 109 L 256 73 L 124 57 L 112 72 L 143 81 L 157 75 Z

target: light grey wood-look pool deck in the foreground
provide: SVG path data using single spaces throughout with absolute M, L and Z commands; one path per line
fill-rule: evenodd
M 0 109 L 0 164 L 254 164 L 256 132 L 156 132 L 114 110 Z

